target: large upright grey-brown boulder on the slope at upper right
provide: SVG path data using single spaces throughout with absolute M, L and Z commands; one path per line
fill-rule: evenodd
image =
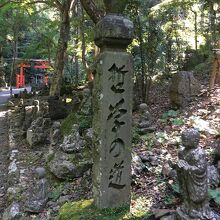
M 175 107 L 186 107 L 191 99 L 198 95 L 200 83 L 194 78 L 192 72 L 178 72 L 170 85 L 170 102 Z

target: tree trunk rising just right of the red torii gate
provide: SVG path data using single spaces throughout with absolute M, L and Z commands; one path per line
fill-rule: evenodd
M 58 40 L 58 47 L 56 53 L 55 60 L 55 72 L 52 80 L 52 84 L 50 87 L 50 96 L 59 96 L 60 89 L 63 79 L 63 71 L 64 71 L 64 63 L 65 63 L 65 55 L 69 41 L 70 35 L 70 6 L 72 0 L 64 1 L 60 16 L 61 16 L 61 24 L 60 24 L 60 37 Z

